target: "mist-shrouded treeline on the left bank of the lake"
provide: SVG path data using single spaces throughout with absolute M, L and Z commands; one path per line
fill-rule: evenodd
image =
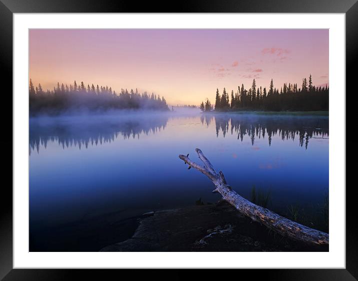
M 34 86 L 31 79 L 28 86 L 29 113 L 60 114 L 73 110 L 107 111 L 116 109 L 169 110 L 164 97 L 153 93 L 139 93 L 137 89 L 121 89 L 120 93 L 112 91 L 108 86 L 60 85 L 57 83 L 52 90 L 42 90 L 40 84 Z

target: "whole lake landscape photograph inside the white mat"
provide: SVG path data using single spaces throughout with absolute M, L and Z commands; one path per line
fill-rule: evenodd
M 29 252 L 329 251 L 329 29 L 28 47 Z

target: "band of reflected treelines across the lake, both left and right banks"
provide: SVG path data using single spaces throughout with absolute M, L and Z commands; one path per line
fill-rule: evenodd
M 210 114 L 198 116 L 120 116 L 106 118 L 31 119 L 29 126 L 29 153 L 46 148 L 48 142 L 58 143 L 63 149 L 71 146 L 87 148 L 110 143 L 118 138 L 137 138 L 164 130 L 170 121 L 199 120 L 203 126 L 213 128 L 216 137 L 237 135 L 241 142 L 248 136 L 251 145 L 255 139 L 280 136 L 282 141 L 298 138 L 299 146 L 307 149 L 311 138 L 328 138 L 327 117 L 264 116 Z M 214 132 L 213 132 L 214 133 Z

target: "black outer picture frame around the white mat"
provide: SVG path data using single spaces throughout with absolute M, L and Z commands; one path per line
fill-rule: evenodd
M 358 63 L 358 3 L 357 0 L 192 0 L 190 2 L 143 2 L 121 0 L 0 0 L 0 67 L 3 120 L 2 145 L 2 184 L 0 203 L 0 279 L 13 280 L 107 280 L 118 279 L 122 273 L 145 274 L 146 278 L 155 277 L 182 279 L 187 270 L 175 269 L 168 272 L 153 272 L 150 269 L 13 269 L 12 267 L 12 16 L 14 13 L 344 13 L 346 40 L 346 93 L 356 95 L 353 89 L 354 67 Z M 342 87 L 342 97 L 346 99 L 346 128 L 354 122 L 353 102 L 348 103 Z M 11 106 L 10 106 L 11 105 Z M 334 115 L 334 112 L 330 112 Z M 346 138 L 346 136 L 344 136 Z M 345 269 L 235 269 L 250 274 L 253 279 L 268 280 L 357 280 L 358 279 L 358 220 L 356 219 L 355 186 L 348 184 L 355 168 L 356 140 L 346 138 L 346 267 Z M 11 160 L 10 160 L 11 159 Z M 349 160 L 351 165 L 349 165 Z M 348 173 L 350 171 L 350 173 Z M 344 188 L 344 186 L 336 187 Z M 331 211 L 334 211 L 332 206 Z M 155 270 L 156 271 L 156 270 Z M 207 272 L 207 271 L 206 271 Z M 113 274 L 114 273 L 114 274 Z M 199 272 L 202 274 L 202 272 Z M 232 273 L 232 272 L 229 272 Z M 211 278 L 222 278 L 222 272 L 211 270 Z M 234 274 L 237 274 L 234 273 Z M 238 273 L 241 274 L 241 273 Z M 127 275 L 128 276 L 128 275 Z M 247 275 L 246 275 L 247 276 Z M 204 277 L 204 276 L 203 276 Z

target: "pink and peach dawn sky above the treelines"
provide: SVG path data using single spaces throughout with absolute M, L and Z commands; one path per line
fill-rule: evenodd
M 214 101 L 237 86 L 268 88 L 312 75 L 328 84 L 328 30 L 30 30 L 29 77 L 154 92 L 168 104 Z

